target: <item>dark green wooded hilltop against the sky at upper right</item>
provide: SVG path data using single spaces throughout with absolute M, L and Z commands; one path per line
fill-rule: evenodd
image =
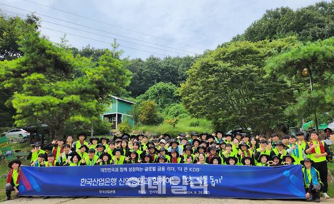
M 288 7 L 267 10 L 241 35 L 247 41 L 275 40 L 298 36 L 300 41 L 330 38 L 334 33 L 334 2 L 319 2 L 293 11 Z

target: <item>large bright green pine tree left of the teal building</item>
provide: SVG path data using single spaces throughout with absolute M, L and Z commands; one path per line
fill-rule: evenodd
M 15 123 L 45 123 L 52 138 L 61 137 L 70 121 L 90 126 L 110 95 L 126 92 L 130 83 L 130 72 L 109 51 L 92 62 L 74 57 L 39 32 L 26 33 L 20 44 L 23 56 L 0 64 L 1 85 L 14 91 L 9 103 L 17 112 Z

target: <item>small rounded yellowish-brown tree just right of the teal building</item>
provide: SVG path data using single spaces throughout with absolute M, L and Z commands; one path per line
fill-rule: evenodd
M 140 106 L 139 121 L 143 125 L 157 125 L 162 122 L 154 101 L 144 101 Z

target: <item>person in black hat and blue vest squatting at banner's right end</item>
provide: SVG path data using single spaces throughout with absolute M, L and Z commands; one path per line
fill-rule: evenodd
M 315 200 L 316 202 L 320 202 L 320 192 L 323 188 L 323 183 L 320 180 L 319 172 L 312 166 L 313 163 L 310 158 L 300 161 L 300 164 L 303 165 L 305 197 L 307 201 Z

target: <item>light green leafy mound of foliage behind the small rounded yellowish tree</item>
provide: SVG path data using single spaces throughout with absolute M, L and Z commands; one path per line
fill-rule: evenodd
M 140 105 L 143 101 L 152 100 L 162 112 L 166 107 L 180 102 L 177 87 L 172 83 L 157 83 L 151 86 L 144 94 L 136 98 Z

